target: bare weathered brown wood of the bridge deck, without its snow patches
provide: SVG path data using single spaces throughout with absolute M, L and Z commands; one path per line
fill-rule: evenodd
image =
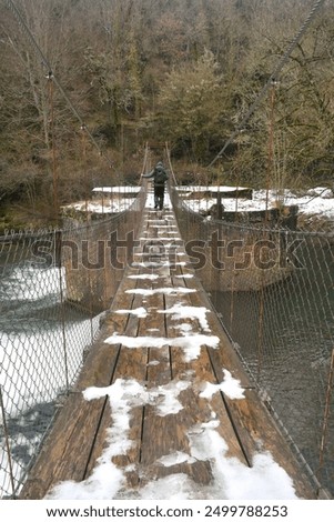
M 208 295 L 193 277 L 180 245 L 173 213 L 146 210 L 140 235 L 141 248 L 136 249 L 135 262 L 119 287 L 99 340 L 85 360 L 75 389 L 55 419 L 26 481 L 21 499 L 41 499 L 62 481 L 80 482 L 91 475 L 108 446 L 112 411 L 108 396 L 88 401 L 82 392 L 90 387 L 108 388 L 119 379 L 135 380 L 158 396 L 153 403 L 141 404 L 139 401 L 139 405 L 132 408 L 128 433 L 131 448 L 124 454 L 113 456 L 114 464 L 126 476 L 129 491 L 173 473 L 188 474 L 199 489 L 210 484 L 213 471 L 209 459 L 185 459 L 170 466 L 161 462 L 166 455 L 178 452 L 191 455 L 192 431 L 214 419 L 219 421 L 216 432 L 229 446 L 226 456 L 251 466 L 259 451 L 271 452 L 293 479 L 296 494 L 305 499 L 315 498 L 313 485 L 259 399 Z M 168 247 L 171 241 L 173 248 Z M 155 274 L 156 279 L 138 278 L 144 274 Z M 175 290 L 173 293 L 164 291 L 171 288 Z M 181 292 L 180 288 L 189 290 L 189 293 Z M 144 290 L 155 290 L 155 293 L 135 293 Z M 203 329 L 196 318 L 178 319 L 169 312 L 180 303 L 183 307 L 204 307 L 208 328 Z M 131 312 L 140 307 L 146 311 L 143 317 Z M 186 338 L 188 331 L 217 337 L 219 348 L 202 345 L 198 358 L 185 357 L 173 339 Z M 114 334 L 129 339 L 159 338 L 162 344 L 128 348 L 126 341 L 107 343 L 105 340 Z M 201 396 L 205 383 L 217 384 L 224 380 L 224 370 L 240 380 L 245 399 L 231 400 L 221 391 L 210 399 Z M 160 394 L 168 396 L 169 387 L 178 383 L 183 387 L 178 396 L 180 410 L 159 413 Z M 126 491 L 122 492 L 122 498 L 126 498 Z

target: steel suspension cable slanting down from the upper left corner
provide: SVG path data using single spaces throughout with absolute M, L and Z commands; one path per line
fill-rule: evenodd
M 80 128 L 81 130 L 83 130 L 90 138 L 91 142 L 94 144 L 94 147 L 97 148 L 99 154 L 101 157 L 103 157 L 109 167 L 111 167 L 112 169 L 114 169 L 114 165 L 112 163 L 112 161 L 110 160 L 110 158 L 102 151 L 102 149 L 100 148 L 99 143 L 97 142 L 97 140 L 94 139 L 94 137 L 92 135 L 92 133 L 90 132 L 89 128 L 87 127 L 85 122 L 83 121 L 82 117 L 80 116 L 79 111 L 77 110 L 77 108 L 74 107 L 74 104 L 72 103 L 72 101 L 70 100 L 70 98 L 68 97 L 68 94 L 65 93 L 63 87 L 61 86 L 60 81 L 58 80 L 58 78 L 55 77 L 54 72 L 52 71 L 52 67 L 51 67 L 51 63 L 49 62 L 49 60 L 45 58 L 44 53 L 42 52 L 41 48 L 39 47 L 38 42 L 36 41 L 32 32 L 30 31 L 29 27 L 27 26 L 21 12 L 19 11 L 19 9 L 16 7 L 14 2 L 12 0 L 6 0 L 6 3 L 8 6 L 8 8 L 10 9 L 10 11 L 13 13 L 13 16 L 16 17 L 19 26 L 21 27 L 26 38 L 29 40 L 32 49 L 34 50 L 36 54 L 39 57 L 39 59 L 41 60 L 41 63 L 43 64 L 43 67 L 47 69 L 48 71 L 48 80 L 50 81 L 53 81 L 53 83 L 57 86 L 59 92 L 61 93 L 61 96 L 63 97 L 63 99 L 67 101 L 69 108 L 71 109 L 72 113 L 75 116 L 75 118 L 78 119 L 79 123 L 80 123 Z

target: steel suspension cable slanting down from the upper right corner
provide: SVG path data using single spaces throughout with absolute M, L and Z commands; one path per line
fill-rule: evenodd
M 276 81 L 277 81 L 277 78 L 279 78 L 279 74 L 280 72 L 282 71 L 283 67 L 285 66 L 285 63 L 287 62 L 292 51 L 295 49 L 295 47 L 298 44 L 300 40 L 302 39 L 302 37 L 304 36 L 306 29 L 308 28 L 310 23 L 312 22 L 312 20 L 314 19 L 316 12 L 318 11 L 318 9 L 321 8 L 321 6 L 324 3 L 325 0 L 316 0 L 316 2 L 313 4 L 306 20 L 304 21 L 304 23 L 301 26 L 300 30 L 297 31 L 297 33 L 295 34 L 294 39 L 291 41 L 289 48 L 286 49 L 285 53 L 283 54 L 283 57 L 279 60 L 275 69 L 273 70 L 272 74 L 270 76 L 270 79 L 267 80 L 267 82 L 265 83 L 265 86 L 263 87 L 262 91 L 260 92 L 260 94 L 257 96 L 256 100 L 253 102 L 253 104 L 250 107 L 249 111 L 246 112 L 246 114 L 243 117 L 242 121 L 239 123 L 237 128 L 235 129 L 235 131 L 231 134 L 231 137 L 227 139 L 227 141 L 225 142 L 224 147 L 220 150 L 220 152 L 216 154 L 216 157 L 211 161 L 211 163 L 209 164 L 209 167 L 212 167 L 220 158 L 222 158 L 223 153 L 225 152 L 225 150 L 227 149 L 227 147 L 232 143 L 232 141 L 234 140 L 234 138 L 237 137 L 237 134 L 242 131 L 242 129 L 244 128 L 244 126 L 246 124 L 246 122 L 249 121 L 249 119 L 251 118 L 251 116 L 253 114 L 253 112 L 257 109 L 259 104 L 261 103 L 262 99 L 264 98 L 264 96 L 266 94 L 266 91 L 270 89 L 271 86 L 275 84 Z

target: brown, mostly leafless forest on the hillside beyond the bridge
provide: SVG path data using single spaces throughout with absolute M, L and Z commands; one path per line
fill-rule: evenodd
M 146 142 L 155 154 L 169 143 L 183 183 L 332 188 L 328 0 L 212 162 L 314 3 L 0 0 L 2 224 L 14 211 L 45 218 L 94 185 L 136 183 Z

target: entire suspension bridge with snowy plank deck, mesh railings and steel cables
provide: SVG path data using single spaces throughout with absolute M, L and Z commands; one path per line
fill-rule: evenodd
M 331 498 L 333 234 L 208 220 L 165 163 L 162 211 L 0 238 L 2 496 Z

